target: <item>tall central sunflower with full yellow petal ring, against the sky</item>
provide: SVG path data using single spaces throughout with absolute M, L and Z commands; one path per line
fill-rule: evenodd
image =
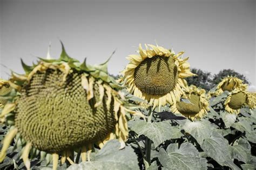
M 148 47 L 149 46 L 149 47 Z M 138 55 L 129 55 L 130 63 L 123 70 L 122 81 L 128 91 L 153 105 L 153 108 L 167 103 L 174 104 L 187 90 L 185 77 L 194 76 L 190 64 L 179 58 L 184 52 L 175 54 L 161 46 L 139 44 Z

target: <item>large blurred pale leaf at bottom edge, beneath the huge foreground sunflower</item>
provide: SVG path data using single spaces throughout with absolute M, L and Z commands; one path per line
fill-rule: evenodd
M 130 146 L 119 150 L 118 140 L 110 140 L 96 153 L 91 161 L 73 164 L 68 170 L 76 169 L 139 169 L 137 155 Z

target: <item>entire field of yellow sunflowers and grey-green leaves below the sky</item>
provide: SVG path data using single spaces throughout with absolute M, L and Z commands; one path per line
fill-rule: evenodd
M 256 169 L 256 93 L 188 86 L 184 52 L 139 44 L 119 79 L 62 44 L 0 79 L 0 169 Z

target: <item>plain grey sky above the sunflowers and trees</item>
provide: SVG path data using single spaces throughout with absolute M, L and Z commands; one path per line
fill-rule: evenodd
M 185 50 L 191 67 L 218 73 L 231 68 L 256 85 L 255 1 L 26 1 L 0 0 L 0 62 L 22 73 L 20 58 L 60 54 L 90 64 L 109 62 L 118 74 L 139 43 Z M 0 77 L 9 70 L 0 66 Z

